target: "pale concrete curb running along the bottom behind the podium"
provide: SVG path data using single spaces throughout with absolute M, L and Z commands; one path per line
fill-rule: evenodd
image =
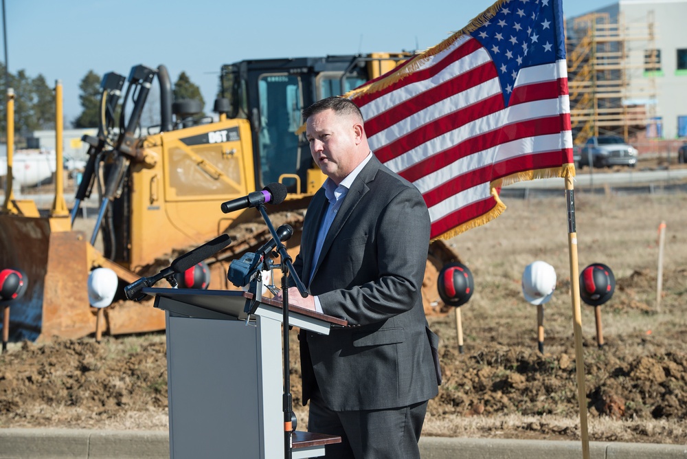
M 423 459 L 579 459 L 582 443 L 491 438 L 420 439 Z M 164 431 L 0 429 L 0 458 L 169 458 Z M 590 442 L 590 459 L 687 459 L 687 445 Z

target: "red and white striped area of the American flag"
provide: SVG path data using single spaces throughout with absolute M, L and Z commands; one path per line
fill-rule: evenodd
M 521 69 L 508 107 L 497 71 L 464 35 L 385 89 L 352 96 L 372 151 L 425 197 L 433 238 L 493 209 L 497 179 L 573 162 L 565 60 Z

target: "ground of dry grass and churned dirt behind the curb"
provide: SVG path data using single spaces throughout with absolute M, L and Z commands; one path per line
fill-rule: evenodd
M 510 200 L 502 216 L 453 240 L 475 293 L 429 316 L 441 337 L 444 383 L 423 434 L 491 438 L 581 438 L 567 212 L 558 198 Z M 687 194 L 578 193 L 579 271 L 592 262 L 616 276 L 613 298 L 581 305 L 583 409 L 590 440 L 687 445 Z M 666 223 L 657 303 L 658 228 Z M 537 349 L 537 306 L 521 293 L 524 267 L 544 260 L 557 273 Z M 295 331 L 292 350 L 297 349 Z M 10 343 L 0 357 L 0 427 L 167 429 L 164 333 Z M 300 429 L 297 352 L 291 383 Z

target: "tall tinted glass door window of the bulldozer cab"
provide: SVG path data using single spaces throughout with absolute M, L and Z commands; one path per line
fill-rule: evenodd
M 298 76 L 263 75 L 258 80 L 260 98 L 260 178 L 262 185 L 293 174 L 300 167 L 295 135 L 302 124 L 301 81 Z

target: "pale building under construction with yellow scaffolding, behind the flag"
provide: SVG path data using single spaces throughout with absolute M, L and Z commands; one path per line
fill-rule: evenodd
M 687 0 L 620 0 L 566 21 L 575 144 L 687 136 Z

